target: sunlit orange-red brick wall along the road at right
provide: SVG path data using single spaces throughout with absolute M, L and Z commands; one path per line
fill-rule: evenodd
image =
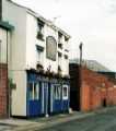
M 81 70 L 81 110 L 116 105 L 115 81 L 86 68 Z

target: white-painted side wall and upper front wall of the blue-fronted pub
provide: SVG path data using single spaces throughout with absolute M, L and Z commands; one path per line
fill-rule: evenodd
M 46 37 L 54 36 L 58 40 L 57 31 L 50 26 L 45 25 L 44 35 L 45 40 L 38 40 L 37 21 L 36 17 L 27 13 L 26 9 L 18 7 L 9 1 L 3 0 L 3 21 L 8 21 L 14 26 L 11 35 L 10 45 L 10 61 L 9 74 L 16 88 L 12 90 L 12 115 L 26 116 L 26 72 L 27 68 L 35 68 L 37 60 L 37 52 L 35 45 L 38 44 L 45 48 L 43 52 L 43 66 L 46 70 L 51 66 L 51 71 L 58 70 L 58 55 L 57 60 L 53 61 L 46 59 Z M 68 62 L 63 62 L 63 74 L 68 72 Z M 67 69 L 67 71 L 66 71 Z

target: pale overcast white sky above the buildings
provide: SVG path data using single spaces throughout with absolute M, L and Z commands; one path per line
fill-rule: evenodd
M 70 58 L 96 60 L 116 71 L 116 0 L 13 0 L 71 35 Z M 56 17 L 56 19 L 55 19 Z

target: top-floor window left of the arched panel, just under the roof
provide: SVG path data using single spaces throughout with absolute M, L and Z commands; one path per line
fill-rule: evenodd
M 44 40 L 44 22 L 37 21 L 37 38 Z

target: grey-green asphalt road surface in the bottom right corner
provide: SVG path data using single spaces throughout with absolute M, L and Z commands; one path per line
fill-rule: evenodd
M 97 112 L 95 116 L 73 120 L 40 131 L 116 131 L 116 110 Z

